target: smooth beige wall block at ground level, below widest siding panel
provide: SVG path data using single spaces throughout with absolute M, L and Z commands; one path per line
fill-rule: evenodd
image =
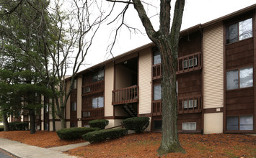
M 203 134 L 220 134 L 223 132 L 223 113 L 205 113 Z

